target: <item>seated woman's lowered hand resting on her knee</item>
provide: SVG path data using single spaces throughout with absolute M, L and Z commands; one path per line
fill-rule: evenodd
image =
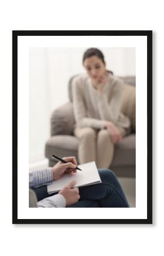
M 112 143 L 115 144 L 122 140 L 122 135 L 113 122 L 107 121 L 104 127 L 109 131 Z

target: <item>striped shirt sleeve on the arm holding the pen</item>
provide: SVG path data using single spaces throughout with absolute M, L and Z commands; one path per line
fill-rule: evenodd
M 45 168 L 29 173 L 29 188 L 37 188 L 48 185 L 53 180 L 52 168 Z

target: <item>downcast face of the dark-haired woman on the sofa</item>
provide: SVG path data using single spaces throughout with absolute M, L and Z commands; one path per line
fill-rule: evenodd
M 106 65 L 103 61 L 95 56 L 89 57 L 84 60 L 84 68 L 88 76 L 95 82 L 99 82 L 102 75 L 106 72 Z

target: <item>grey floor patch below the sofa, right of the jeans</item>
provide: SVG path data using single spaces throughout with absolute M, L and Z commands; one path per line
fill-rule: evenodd
M 118 177 L 118 180 L 122 185 L 130 207 L 136 207 L 136 179 L 130 177 Z

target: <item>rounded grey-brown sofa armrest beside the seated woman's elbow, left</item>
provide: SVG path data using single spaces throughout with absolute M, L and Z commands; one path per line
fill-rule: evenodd
M 54 110 L 51 115 L 51 136 L 57 134 L 73 134 L 75 125 L 72 102 L 67 102 Z

